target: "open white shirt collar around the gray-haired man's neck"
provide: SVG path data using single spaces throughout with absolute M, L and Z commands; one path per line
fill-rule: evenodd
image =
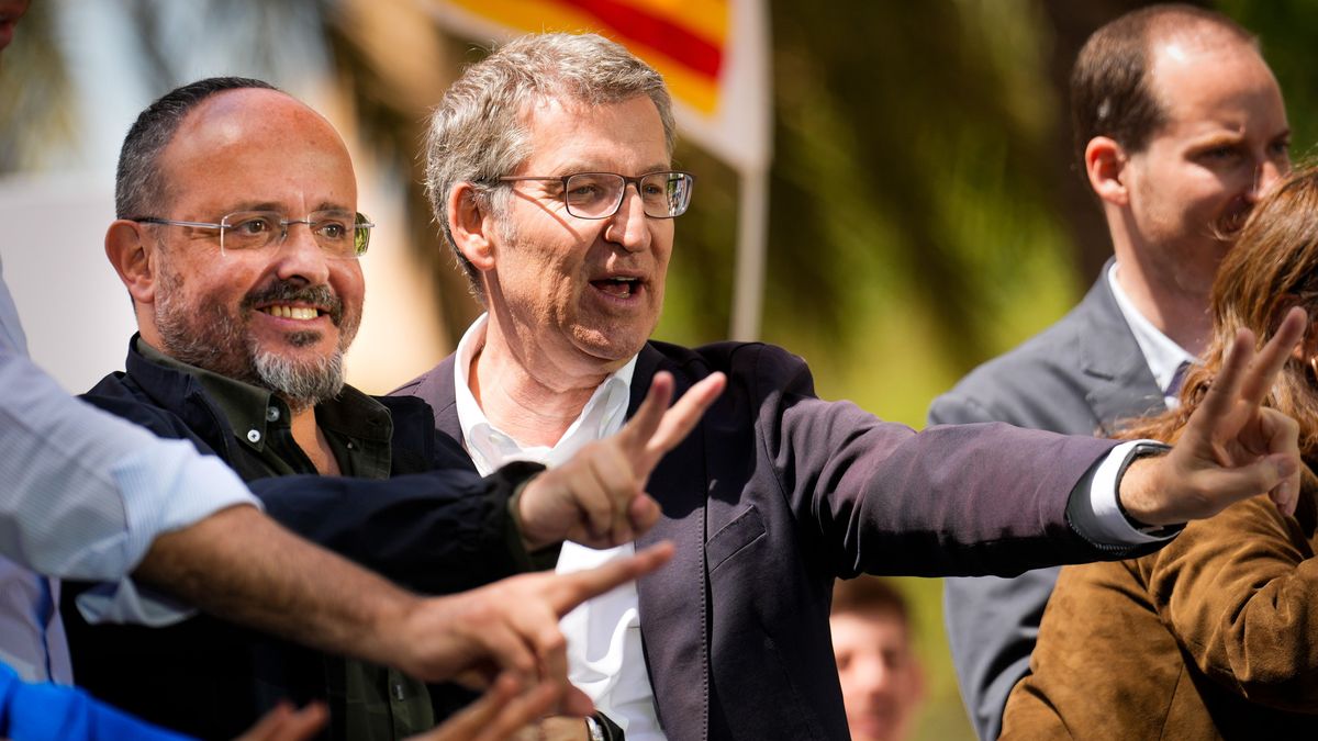
M 457 422 L 463 429 L 463 444 L 482 476 L 511 460 L 556 465 L 572 458 L 587 443 L 606 438 L 622 429 L 627 402 L 631 400 L 631 377 L 637 370 L 637 356 L 600 384 L 581 409 L 581 414 L 554 446 L 523 446 L 490 425 L 468 384 L 472 360 L 485 347 L 488 327 L 489 314 L 482 314 L 457 343 L 453 359 L 453 396 Z

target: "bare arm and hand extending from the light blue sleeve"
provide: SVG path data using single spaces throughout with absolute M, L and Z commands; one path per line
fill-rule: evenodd
M 254 509 L 232 508 L 158 538 L 136 576 L 221 617 L 427 682 L 469 670 L 548 680 L 569 692 L 565 712 L 585 715 L 589 700 L 567 683 L 559 617 L 671 554 L 662 545 L 592 571 L 529 574 L 419 599 Z

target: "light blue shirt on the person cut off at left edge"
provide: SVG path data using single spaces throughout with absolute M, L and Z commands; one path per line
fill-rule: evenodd
M 91 620 L 185 616 L 128 574 L 157 535 L 236 504 L 257 500 L 219 459 L 76 401 L 37 368 L 0 276 L 0 661 L 28 682 L 72 680 L 59 585 L 29 570 L 107 581 L 79 600 Z

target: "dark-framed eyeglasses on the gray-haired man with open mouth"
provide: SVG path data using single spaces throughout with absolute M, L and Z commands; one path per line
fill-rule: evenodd
M 579 219 L 608 219 L 618 212 L 629 185 L 637 186 L 641 206 L 651 219 L 673 219 L 691 206 L 696 175 L 681 171 L 646 173 L 629 178 L 617 173 L 572 173 L 571 175 L 505 175 L 500 182 L 555 181 L 568 214 Z

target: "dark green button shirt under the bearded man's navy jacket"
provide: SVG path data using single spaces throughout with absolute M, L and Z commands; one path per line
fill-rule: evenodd
M 224 413 L 235 436 L 252 450 L 270 476 L 316 473 L 293 439 L 289 405 L 265 389 L 235 381 L 162 355 L 145 340 L 137 351 L 146 360 L 191 374 Z M 369 396 L 344 386 L 337 397 L 316 405 L 316 425 L 344 476 L 387 479 L 393 422 L 389 410 Z M 326 691 L 335 737 L 352 741 L 403 738 L 435 725 L 426 684 L 397 670 L 326 657 Z

